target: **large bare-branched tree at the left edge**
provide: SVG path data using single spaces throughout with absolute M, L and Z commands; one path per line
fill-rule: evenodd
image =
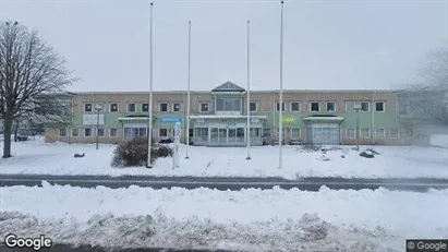
M 3 158 L 11 157 L 11 133 L 16 121 L 58 125 L 69 123 L 57 112 L 61 94 L 75 81 L 65 60 L 37 32 L 17 22 L 0 24 L 0 117 Z M 56 106 L 55 106 L 56 105 Z

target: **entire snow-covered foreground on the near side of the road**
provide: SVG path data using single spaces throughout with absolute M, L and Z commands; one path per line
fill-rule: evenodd
M 403 251 L 448 238 L 448 190 L 0 188 L 0 239 L 250 251 Z

